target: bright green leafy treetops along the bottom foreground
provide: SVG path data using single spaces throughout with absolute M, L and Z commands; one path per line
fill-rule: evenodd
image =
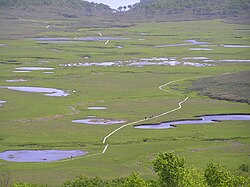
M 220 163 L 209 163 L 204 172 L 186 165 L 184 158 L 174 153 L 159 154 L 153 161 L 158 180 L 144 180 L 137 173 L 128 177 L 104 180 L 100 177 L 78 176 L 68 180 L 63 187 L 234 187 L 248 186 L 249 179 L 230 172 Z M 28 183 L 13 187 L 44 187 Z

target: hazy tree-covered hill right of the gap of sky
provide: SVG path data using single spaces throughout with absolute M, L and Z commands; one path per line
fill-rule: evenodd
M 238 15 L 249 14 L 250 0 L 141 0 L 131 9 L 139 14 Z

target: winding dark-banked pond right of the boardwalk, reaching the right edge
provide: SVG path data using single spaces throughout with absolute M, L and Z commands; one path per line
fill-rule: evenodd
M 136 125 L 136 129 L 170 129 L 175 128 L 175 125 L 185 125 L 185 124 L 205 124 L 205 123 L 217 123 L 220 121 L 244 121 L 250 120 L 250 115 L 248 114 L 221 114 L 221 115 L 204 115 L 197 116 L 199 119 L 194 120 L 178 120 L 163 122 L 159 124 L 149 124 L 149 125 Z

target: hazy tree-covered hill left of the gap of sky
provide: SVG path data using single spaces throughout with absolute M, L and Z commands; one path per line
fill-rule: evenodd
M 17 17 L 66 17 L 110 14 L 109 6 L 82 0 L 0 0 L 0 10 Z

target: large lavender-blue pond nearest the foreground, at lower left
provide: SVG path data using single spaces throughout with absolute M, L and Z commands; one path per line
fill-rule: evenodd
M 18 150 L 0 153 L 0 159 L 10 162 L 53 162 L 87 154 L 80 150 Z

